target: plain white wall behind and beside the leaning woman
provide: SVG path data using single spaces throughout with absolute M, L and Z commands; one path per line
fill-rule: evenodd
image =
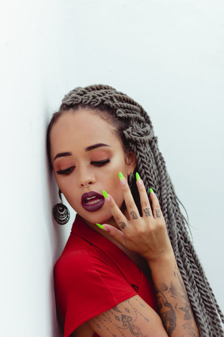
M 223 294 L 223 1 L 3 1 L 1 335 L 58 337 L 53 266 L 69 235 L 45 132 L 76 86 L 114 86 L 149 113 L 206 274 Z

